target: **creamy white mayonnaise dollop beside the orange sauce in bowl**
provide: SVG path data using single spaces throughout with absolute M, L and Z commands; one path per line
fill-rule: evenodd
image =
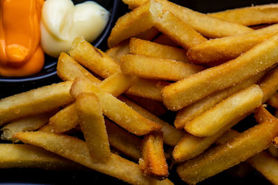
M 47 0 L 42 7 L 41 44 L 48 55 L 58 58 L 72 47 L 75 37 L 94 41 L 104 30 L 109 12 L 94 1 L 74 6 L 71 0 Z

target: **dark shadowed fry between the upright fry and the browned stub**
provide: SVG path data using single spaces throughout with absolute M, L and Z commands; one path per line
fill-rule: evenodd
M 105 125 L 110 145 L 138 161 L 141 156 L 141 139 L 111 123 L 108 119 L 105 119 Z

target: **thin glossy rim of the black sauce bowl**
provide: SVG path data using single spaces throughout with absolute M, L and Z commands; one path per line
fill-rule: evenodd
M 104 30 L 104 33 L 101 34 L 101 37 L 97 39 L 97 43 L 94 44 L 95 47 L 98 47 L 102 42 L 105 41 L 106 37 L 111 31 L 111 28 L 113 26 L 113 22 L 115 21 L 115 18 L 117 16 L 117 8 L 119 6 L 120 0 L 113 0 L 113 8 L 111 11 L 111 17 L 108 21 L 108 24 Z M 50 73 L 46 73 L 42 76 L 30 76 L 26 78 L 0 78 L 0 83 L 22 83 L 22 82 L 37 82 L 40 80 L 46 80 L 48 78 L 56 76 L 57 71 L 51 71 Z

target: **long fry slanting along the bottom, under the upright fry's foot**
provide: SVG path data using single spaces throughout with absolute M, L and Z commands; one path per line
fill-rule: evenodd
M 172 184 L 169 179 L 162 182 L 145 177 L 140 172 L 138 164 L 128 161 L 118 155 L 111 154 L 111 159 L 106 163 L 95 163 L 90 157 L 84 141 L 63 134 L 47 132 L 19 132 L 15 138 L 45 150 L 61 155 L 83 166 L 97 170 L 100 173 L 111 175 L 130 184 Z

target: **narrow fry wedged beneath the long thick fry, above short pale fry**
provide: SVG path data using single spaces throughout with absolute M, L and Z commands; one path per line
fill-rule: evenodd
M 266 71 L 262 71 L 261 73 L 252 76 L 248 80 L 245 80 L 238 85 L 228 87 L 221 91 L 217 91 L 211 95 L 206 96 L 205 98 L 202 98 L 201 100 L 198 100 L 197 102 L 191 105 L 188 105 L 187 107 L 184 107 L 178 112 L 174 120 L 174 126 L 177 127 L 177 129 L 183 129 L 184 125 L 189 121 L 192 121 L 193 118 L 196 118 L 197 116 L 203 114 L 208 109 L 211 109 L 212 107 L 220 103 L 222 100 L 228 98 L 236 92 L 243 90 L 249 87 L 250 85 L 258 82 L 265 75 L 265 73 Z

